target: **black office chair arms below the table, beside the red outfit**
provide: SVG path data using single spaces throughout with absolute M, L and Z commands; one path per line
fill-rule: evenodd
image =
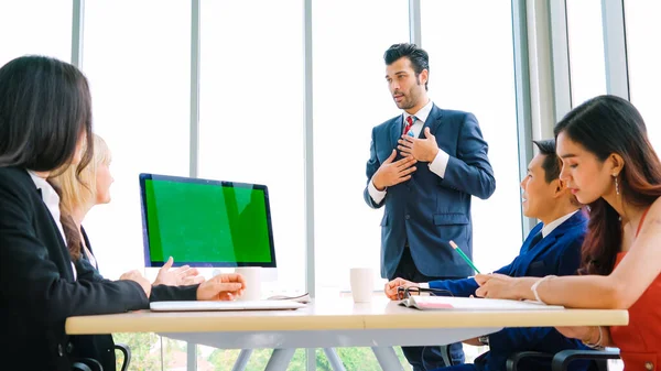
M 507 371 L 517 371 L 519 362 L 525 358 L 551 359 L 552 371 L 566 371 L 572 361 L 593 360 L 588 368 L 590 371 L 607 371 L 609 359 L 619 359 L 619 350 L 576 350 L 568 349 L 555 354 L 539 351 L 521 351 L 513 353 L 507 359 Z

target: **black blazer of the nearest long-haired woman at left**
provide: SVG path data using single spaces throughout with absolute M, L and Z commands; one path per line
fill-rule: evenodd
M 150 301 L 195 299 L 196 286 L 155 286 L 104 280 L 71 255 L 28 172 L 0 167 L 0 359 L 8 370 L 71 370 L 76 336 L 71 316 L 147 309 Z

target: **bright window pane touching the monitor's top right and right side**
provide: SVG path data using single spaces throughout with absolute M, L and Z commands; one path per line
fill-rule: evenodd
M 209 0 L 201 14 L 199 176 L 269 187 L 272 288 L 303 291 L 303 2 Z

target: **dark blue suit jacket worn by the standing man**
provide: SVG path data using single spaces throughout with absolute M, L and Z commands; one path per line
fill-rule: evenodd
M 419 163 L 411 179 L 388 187 L 380 204 L 375 203 L 367 187 L 364 190 L 367 205 L 386 206 L 381 220 L 382 277 L 392 277 L 407 241 L 422 274 L 436 277 L 473 274 L 448 241 L 454 240 L 468 257 L 473 255 L 470 196 L 486 199 L 496 189 L 487 157 L 488 145 L 472 113 L 433 106 L 424 123 L 426 127 L 438 148 L 449 155 L 445 177 L 430 171 L 427 163 Z M 424 128 L 421 138 L 424 138 Z M 372 129 L 366 172 L 368 184 L 397 148 L 402 131 L 402 116 Z

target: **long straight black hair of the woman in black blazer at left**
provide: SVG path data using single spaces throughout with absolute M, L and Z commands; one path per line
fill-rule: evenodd
M 87 79 L 75 66 L 44 56 L 22 56 L 0 68 L 0 166 L 52 172 L 74 157 L 80 135 L 80 173 L 91 160 L 91 99 Z M 80 237 L 68 210 L 61 221 L 72 258 Z M 72 236 L 69 236 L 72 234 Z

